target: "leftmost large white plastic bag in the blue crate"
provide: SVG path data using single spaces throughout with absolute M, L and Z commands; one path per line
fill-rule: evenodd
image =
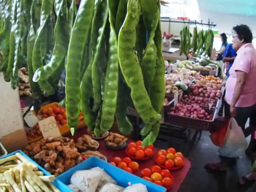
M 70 184 L 82 192 L 96 192 L 101 177 L 102 172 L 96 170 L 76 171 L 71 176 Z

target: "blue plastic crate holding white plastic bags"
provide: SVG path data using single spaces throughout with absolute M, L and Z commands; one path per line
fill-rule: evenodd
M 113 166 L 112 164 L 109 164 L 108 162 L 105 162 L 95 156 L 92 156 L 85 160 L 84 162 L 74 166 L 70 170 L 62 173 L 57 177 L 58 180 L 63 182 L 64 184 L 68 185 L 70 184 L 70 178 L 72 174 L 78 170 L 88 170 L 93 167 L 100 167 L 104 169 L 116 182 L 118 185 L 122 187 L 127 187 L 128 182 L 131 184 L 141 183 L 147 186 L 148 192 L 166 192 L 166 188 L 156 185 L 152 182 L 149 182 L 147 180 L 144 180 L 138 176 L 135 176 L 134 174 L 130 174 L 116 166 Z

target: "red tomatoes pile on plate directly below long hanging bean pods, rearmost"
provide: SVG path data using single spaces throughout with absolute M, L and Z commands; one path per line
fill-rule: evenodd
M 148 147 L 143 147 L 141 144 L 142 141 L 129 143 L 126 148 L 127 155 L 137 160 L 143 160 L 152 157 L 154 155 L 154 145 L 151 144 Z

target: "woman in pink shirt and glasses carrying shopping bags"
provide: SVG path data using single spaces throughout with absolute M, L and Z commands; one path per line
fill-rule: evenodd
M 238 126 L 247 137 L 254 133 L 256 127 L 256 50 L 252 46 L 252 32 L 248 26 L 235 26 L 232 38 L 237 56 L 226 81 L 224 113 L 225 116 L 236 119 Z M 245 130 L 248 118 L 250 118 L 250 127 Z M 218 163 L 207 164 L 206 168 L 225 171 L 230 162 L 235 160 L 223 157 Z

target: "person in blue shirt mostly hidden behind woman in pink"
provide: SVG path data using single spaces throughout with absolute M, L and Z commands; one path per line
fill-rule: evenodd
M 230 70 L 232 64 L 234 63 L 235 58 L 236 58 L 236 50 L 233 49 L 233 44 L 230 43 L 226 46 L 226 49 L 224 50 L 224 52 L 222 54 L 222 61 L 224 63 L 228 62 L 228 69 L 226 71 L 227 78 L 229 77 L 229 70 Z M 219 116 L 223 116 L 225 93 L 226 92 L 224 91 L 223 96 L 222 96 L 222 104 L 220 106 L 220 110 L 219 110 L 219 114 L 218 114 Z

